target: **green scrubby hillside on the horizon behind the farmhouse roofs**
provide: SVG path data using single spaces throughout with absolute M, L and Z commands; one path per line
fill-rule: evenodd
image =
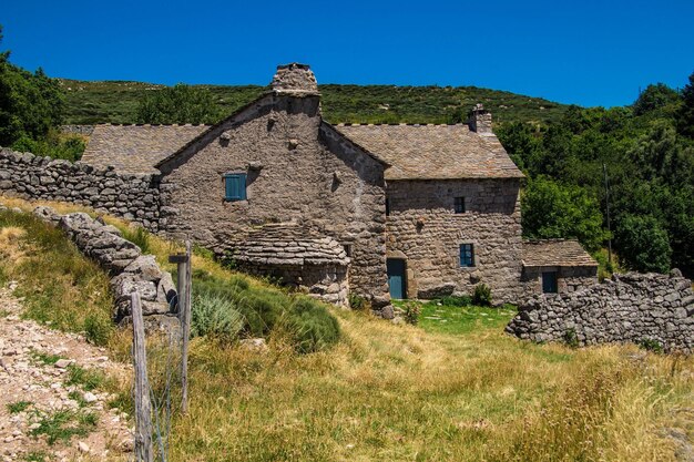
M 85 82 L 61 79 L 65 123 L 135 123 L 140 99 L 163 85 L 143 82 Z M 231 113 L 265 91 L 258 85 L 202 85 Z M 483 103 L 494 122 L 551 123 L 568 107 L 541 97 L 476 86 L 320 85 L 323 112 L 333 123 L 446 123 L 457 110 Z

